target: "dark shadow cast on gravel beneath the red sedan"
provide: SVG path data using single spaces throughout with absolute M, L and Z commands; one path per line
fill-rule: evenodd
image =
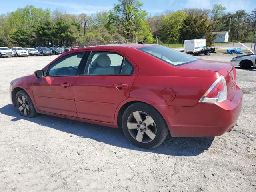
M 77 135 L 83 138 L 90 138 L 105 144 L 130 150 L 152 152 L 172 156 L 196 156 L 205 150 L 208 150 L 214 140 L 214 137 L 171 138 L 170 135 L 168 135 L 168 138 L 166 138 L 161 146 L 148 150 L 133 146 L 128 141 L 128 139 L 126 139 L 122 129 L 109 128 L 44 114 L 41 114 L 35 118 L 26 118 L 21 116 L 18 110 L 14 108 L 12 104 L 8 104 L 0 108 L 0 113 L 14 117 L 11 121 L 25 119 L 42 126 L 54 128 L 56 130 Z

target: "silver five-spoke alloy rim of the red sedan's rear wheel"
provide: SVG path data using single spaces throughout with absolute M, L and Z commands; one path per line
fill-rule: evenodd
M 148 143 L 156 137 L 157 128 L 153 118 L 142 111 L 135 111 L 130 114 L 127 128 L 130 135 L 138 142 Z

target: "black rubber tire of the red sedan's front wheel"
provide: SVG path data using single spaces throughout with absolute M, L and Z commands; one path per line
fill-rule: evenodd
M 22 97 L 25 98 L 25 102 L 24 102 L 23 99 L 21 99 Z M 22 100 L 22 104 L 18 101 L 18 99 Z M 34 108 L 33 102 L 31 101 L 30 97 L 28 96 L 28 94 L 24 90 L 20 90 L 16 94 L 15 101 L 16 101 L 16 107 L 18 109 L 18 112 L 20 112 L 20 114 L 22 116 L 36 117 L 36 116 L 39 115 L 38 112 L 36 112 L 36 109 Z M 24 109 L 22 111 L 19 110 L 19 108 L 22 107 L 22 105 L 28 106 L 28 109 L 24 106 L 24 108 L 26 108 L 26 113 L 24 112 Z

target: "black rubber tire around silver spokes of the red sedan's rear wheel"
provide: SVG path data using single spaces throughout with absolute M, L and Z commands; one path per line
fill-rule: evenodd
M 138 124 L 136 124 L 136 123 L 138 123 L 138 121 L 136 121 L 136 119 L 134 118 L 133 119 L 133 120 L 135 120 L 134 125 L 136 124 L 135 126 L 138 127 L 138 130 L 137 129 L 128 129 L 127 124 L 128 124 L 128 122 L 130 122 L 130 120 L 131 120 L 130 117 L 131 117 L 131 115 L 133 115 L 134 112 L 141 112 L 143 114 L 143 116 L 145 116 L 145 118 L 151 117 L 154 122 L 150 125 L 144 124 L 144 126 L 146 126 L 146 127 L 141 129 L 140 126 Z M 143 120 L 142 114 L 140 114 L 140 118 Z M 141 124 L 143 124 L 144 121 L 146 122 L 146 119 L 144 119 L 141 122 Z M 152 130 L 150 127 L 152 127 L 154 130 Z M 126 110 L 124 111 L 124 114 L 122 116 L 122 128 L 123 128 L 124 134 L 128 138 L 128 140 L 130 140 L 132 142 L 132 144 L 134 144 L 135 146 L 138 146 L 140 148 L 147 148 L 147 149 L 156 148 L 160 144 L 162 144 L 162 142 L 164 142 L 164 140 L 166 139 L 166 137 L 168 135 L 168 126 L 167 126 L 164 118 L 162 117 L 162 115 L 154 107 L 152 107 L 148 104 L 145 104 L 145 103 L 141 103 L 141 102 L 131 104 L 130 106 L 128 106 L 128 108 L 126 108 Z M 146 132 L 148 131 L 147 129 L 149 129 L 151 132 L 154 132 L 153 139 L 151 139 L 148 136 L 148 134 L 146 134 Z M 143 132 L 141 142 L 136 140 L 139 132 Z M 136 135 L 136 138 L 134 138 L 134 135 Z M 143 140 L 144 140 L 144 142 L 143 142 Z

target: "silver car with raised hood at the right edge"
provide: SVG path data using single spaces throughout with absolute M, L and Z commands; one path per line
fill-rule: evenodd
M 232 58 L 232 64 L 234 64 L 234 66 L 240 66 L 241 68 L 245 69 L 251 68 L 252 66 L 256 66 L 256 54 L 244 44 L 240 44 L 244 46 L 247 50 L 249 50 L 251 54 L 240 55 Z

